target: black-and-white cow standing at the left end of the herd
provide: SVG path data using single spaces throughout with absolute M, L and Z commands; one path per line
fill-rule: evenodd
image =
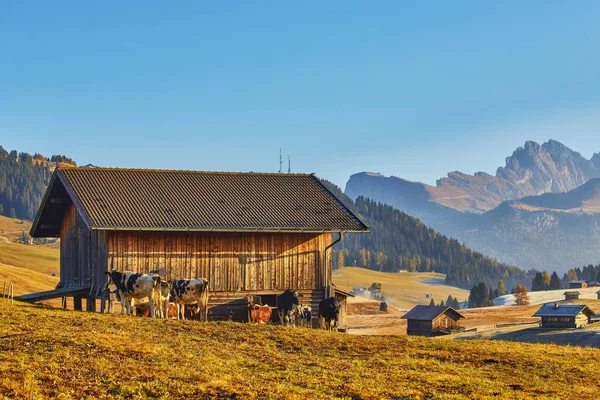
M 121 315 L 133 314 L 133 300 L 147 298 L 150 303 L 150 316 L 154 317 L 154 291 L 160 286 L 160 276 L 154 274 L 136 274 L 134 272 L 106 271 L 108 284 L 114 283 L 121 298 Z

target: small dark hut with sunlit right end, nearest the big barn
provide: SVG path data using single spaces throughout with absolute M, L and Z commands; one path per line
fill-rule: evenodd
M 464 331 L 465 328 L 458 325 L 461 318 L 464 318 L 461 313 L 447 306 L 416 306 L 402 317 L 408 320 L 407 334 L 417 336 Z

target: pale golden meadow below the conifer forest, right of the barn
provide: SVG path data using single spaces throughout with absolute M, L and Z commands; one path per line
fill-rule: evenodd
M 444 274 L 434 272 L 378 272 L 364 268 L 344 267 L 333 271 L 333 282 L 342 290 L 351 290 L 354 286 L 371 286 L 381 283 L 388 302 L 401 310 L 410 310 L 418 304 L 428 305 L 432 294 L 436 303 L 446 301 L 448 295 L 465 301 L 469 291 L 444 285 Z

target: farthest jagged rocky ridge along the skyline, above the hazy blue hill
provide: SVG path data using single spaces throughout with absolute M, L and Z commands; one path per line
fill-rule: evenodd
M 431 186 L 363 172 L 350 177 L 345 192 L 351 198 L 386 197 L 394 202 L 388 204 L 409 213 L 415 208 L 413 203 L 418 203 L 419 210 L 413 211 L 419 213 L 422 203 L 428 201 L 450 210 L 481 214 L 503 201 L 566 192 L 599 177 L 600 154 L 588 160 L 555 140 L 542 145 L 528 141 L 506 158 L 506 166 L 498 168 L 496 175 L 453 171 Z M 387 188 L 383 189 L 382 185 Z

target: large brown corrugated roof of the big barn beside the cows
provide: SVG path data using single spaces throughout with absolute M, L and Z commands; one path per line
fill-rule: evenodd
M 368 230 L 312 174 L 60 168 L 31 235 L 60 235 L 70 204 L 98 230 Z

